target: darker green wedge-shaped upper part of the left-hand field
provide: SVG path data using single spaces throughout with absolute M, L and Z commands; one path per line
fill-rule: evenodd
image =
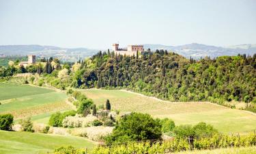
M 14 99 L 17 97 L 29 96 L 33 94 L 44 94 L 55 92 L 46 88 L 32 87 L 29 85 L 15 85 L 0 83 L 0 101 L 5 99 Z

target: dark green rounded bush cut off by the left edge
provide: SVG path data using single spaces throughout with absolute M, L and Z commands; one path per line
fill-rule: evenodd
M 5 131 L 12 130 L 12 125 L 14 122 L 14 116 L 12 114 L 0 115 L 0 129 Z

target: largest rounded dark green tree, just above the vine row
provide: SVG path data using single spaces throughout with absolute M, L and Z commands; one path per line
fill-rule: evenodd
M 162 136 L 159 120 L 154 120 L 149 114 L 132 112 L 124 116 L 113 129 L 113 133 L 106 137 L 106 144 L 139 140 L 160 140 Z

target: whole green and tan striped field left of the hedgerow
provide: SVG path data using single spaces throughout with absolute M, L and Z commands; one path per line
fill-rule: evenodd
M 15 119 L 31 117 L 37 123 L 48 123 L 53 112 L 70 110 L 63 92 L 29 85 L 0 83 L 0 114 L 10 113 Z

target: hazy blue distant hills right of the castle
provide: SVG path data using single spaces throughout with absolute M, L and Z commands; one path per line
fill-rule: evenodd
M 219 57 L 222 55 L 238 55 L 246 54 L 253 55 L 256 53 L 256 44 L 240 44 L 230 47 L 215 47 L 205 44 L 184 44 L 180 46 L 167 46 L 162 44 L 144 44 L 144 49 L 150 48 L 152 51 L 156 49 L 164 49 L 167 51 L 173 51 L 184 57 L 193 57 L 199 59 L 200 57 L 210 56 Z

